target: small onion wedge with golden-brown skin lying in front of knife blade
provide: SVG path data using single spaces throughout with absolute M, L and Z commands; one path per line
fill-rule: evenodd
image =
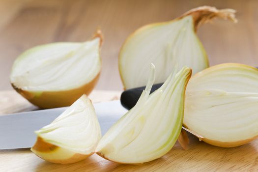
M 59 164 L 86 159 L 94 153 L 101 138 L 94 107 L 86 95 L 35 133 L 37 141 L 31 151 L 46 161 Z

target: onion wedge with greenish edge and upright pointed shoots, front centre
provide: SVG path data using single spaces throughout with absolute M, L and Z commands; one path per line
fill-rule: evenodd
M 117 163 L 141 164 L 171 150 L 181 131 L 191 72 L 188 67 L 177 74 L 173 71 L 163 86 L 149 95 L 155 78 L 153 65 L 139 101 L 103 136 L 96 153 Z

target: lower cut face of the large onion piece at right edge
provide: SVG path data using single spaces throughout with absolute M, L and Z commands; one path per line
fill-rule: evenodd
M 184 125 L 209 140 L 238 142 L 258 135 L 258 93 L 188 92 Z

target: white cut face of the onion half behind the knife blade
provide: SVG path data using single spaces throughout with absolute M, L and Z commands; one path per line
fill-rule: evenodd
M 37 46 L 18 57 L 11 83 L 27 91 L 60 91 L 83 86 L 101 70 L 100 38 L 84 43 L 60 42 Z

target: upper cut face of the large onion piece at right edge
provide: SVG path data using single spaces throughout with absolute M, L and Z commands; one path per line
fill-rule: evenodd
M 212 66 L 192 77 L 186 88 L 187 91 L 204 89 L 258 93 L 258 69 L 237 63 Z

